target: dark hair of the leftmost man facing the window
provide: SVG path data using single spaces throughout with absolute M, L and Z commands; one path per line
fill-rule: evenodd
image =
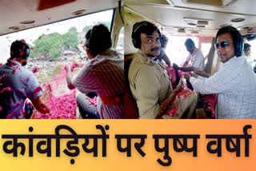
M 30 46 L 25 40 L 16 40 L 10 46 L 10 58 L 28 58 L 30 56 Z

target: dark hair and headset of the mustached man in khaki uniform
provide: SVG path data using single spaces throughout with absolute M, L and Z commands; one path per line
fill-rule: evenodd
M 131 34 L 134 47 L 138 49 L 141 48 L 141 34 L 152 35 L 154 31 L 157 31 L 159 37 L 161 37 L 158 26 L 155 26 L 153 23 L 147 21 L 136 22 L 133 26 L 133 33 Z

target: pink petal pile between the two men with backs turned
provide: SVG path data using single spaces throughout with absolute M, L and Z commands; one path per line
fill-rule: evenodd
M 50 113 L 42 114 L 37 111 L 35 119 L 74 119 L 76 118 L 75 92 L 50 97 L 46 102 Z

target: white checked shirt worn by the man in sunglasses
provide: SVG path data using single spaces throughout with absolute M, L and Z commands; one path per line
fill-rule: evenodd
M 256 75 L 244 56 L 234 56 L 210 78 L 190 82 L 202 94 L 218 93 L 218 118 L 256 118 Z

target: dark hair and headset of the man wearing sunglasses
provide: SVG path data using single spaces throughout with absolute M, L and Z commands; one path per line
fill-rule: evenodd
M 217 38 L 220 34 L 230 33 L 231 37 L 233 38 L 234 42 L 234 54 L 236 57 L 240 57 L 242 55 L 242 35 L 239 33 L 239 31 L 234 28 L 233 26 L 224 26 L 220 30 L 218 30 L 216 34 L 216 42 Z

